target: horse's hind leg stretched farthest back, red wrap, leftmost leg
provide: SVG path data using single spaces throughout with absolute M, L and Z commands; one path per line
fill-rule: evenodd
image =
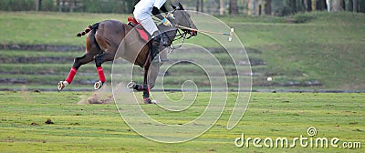
M 87 53 L 84 56 L 76 57 L 74 59 L 74 64 L 71 67 L 71 70 L 69 70 L 68 77 L 66 77 L 65 81 L 59 81 L 58 82 L 58 91 L 61 91 L 63 88 L 68 86 L 72 83 L 72 80 L 74 79 L 74 76 L 78 72 L 78 68 L 82 65 L 85 65 L 89 62 L 91 62 L 94 59 L 94 55 Z

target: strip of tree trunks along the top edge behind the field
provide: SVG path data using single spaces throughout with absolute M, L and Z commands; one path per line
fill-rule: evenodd
M 178 0 L 170 0 L 176 3 Z M 181 0 L 212 15 L 293 15 L 310 11 L 365 13 L 365 0 Z M 1 0 L 1 11 L 57 11 L 130 14 L 139 0 Z

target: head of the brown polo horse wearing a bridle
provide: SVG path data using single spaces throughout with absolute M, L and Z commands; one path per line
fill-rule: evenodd
M 183 5 L 179 3 L 179 5 L 175 6 L 172 5 L 173 8 L 173 16 L 174 16 L 174 23 L 175 25 L 185 26 L 192 29 L 196 29 L 196 26 L 193 23 L 191 15 L 183 8 Z M 189 33 L 191 36 L 197 36 L 198 32 L 192 29 L 182 29 L 184 32 Z

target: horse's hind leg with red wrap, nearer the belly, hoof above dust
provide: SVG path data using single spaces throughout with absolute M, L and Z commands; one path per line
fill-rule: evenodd
M 104 52 L 101 55 L 95 56 L 95 65 L 97 66 L 97 71 L 98 71 L 98 75 L 99 75 L 99 81 L 94 84 L 95 89 L 101 88 L 104 85 L 105 81 L 107 80 L 105 78 L 104 70 L 101 65 L 104 62 L 114 60 L 114 56 L 115 56 L 115 54 L 112 54 L 110 52 Z

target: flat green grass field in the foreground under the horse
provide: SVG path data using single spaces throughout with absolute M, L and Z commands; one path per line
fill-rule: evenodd
M 253 93 L 245 116 L 233 130 L 226 123 L 233 108 L 228 97 L 222 117 L 202 136 L 180 144 L 142 138 L 123 122 L 114 103 L 78 105 L 89 92 L 0 92 L 1 152 L 363 152 L 365 143 L 364 94 Z M 172 95 L 172 93 L 168 94 Z M 208 94 L 200 94 L 207 100 Z M 161 108 L 142 105 L 152 117 L 170 120 Z M 190 107 L 189 111 L 201 110 Z M 156 115 L 159 114 L 159 115 Z M 173 117 L 174 122 L 193 114 Z M 46 124 L 51 119 L 54 124 Z M 171 120 L 170 120 L 171 122 Z M 308 137 L 360 142 L 362 148 L 236 148 L 235 138 Z M 173 137 L 173 136 L 172 136 Z M 261 144 L 263 145 L 263 144 Z

